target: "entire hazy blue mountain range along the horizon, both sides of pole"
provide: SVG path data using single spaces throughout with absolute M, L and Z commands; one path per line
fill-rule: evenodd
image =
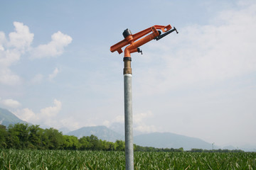
M 10 111 L 0 108 L 0 124 L 8 127 L 10 124 L 15 123 L 27 123 L 19 119 L 16 115 Z M 31 125 L 31 123 L 28 123 Z M 110 142 L 115 142 L 116 140 L 124 140 L 124 125 L 116 124 L 112 125 L 110 128 L 105 126 L 94 126 L 94 127 L 83 127 L 78 130 L 69 131 L 68 128 L 59 129 L 64 135 L 74 135 L 78 138 L 83 136 L 95 135 L 100 140 L 107 140 Z M 212 149 L 212 144 L 205 142 L 196 137 L 187 137 L 184 135 L 177 135 L 171 132 L 153 132 L 148 134 L 139 134 L 134 132 L 134 144 L 143 147 L 156 147 L 156 148 L 175 148 L 178 149 L 183 147 L 184 150 L 190 150 L 193 148 L 197 149 Z M 220 147 L 214 145 L 214 149 L 219 149 Z M 245 151 L 254 151 L 256 146 L 244 145 L 239 149 Z M 229 145 L 228 147 L 223 147 L 222 149 L 238 149 L 238 147 L 233 147 Z

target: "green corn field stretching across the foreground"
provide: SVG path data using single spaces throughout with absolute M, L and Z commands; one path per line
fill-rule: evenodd
M 125 169 L 124 152 L 0 150 L 0 169 Z M 134 152 L 134 169 L 256 169 L 256 153 Z

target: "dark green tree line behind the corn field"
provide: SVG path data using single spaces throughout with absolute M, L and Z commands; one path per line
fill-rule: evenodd
M 17 123 L 6 128 L 0 125 L 0 149 L 68 149 L 68 150 L 103 150 L 124 151 L 125 143 L 122 140 L 108 142 L 99 140 L 97 136 L 90 135 L 75 137 L 63 135 L 54 128 L 40 128 L 39 125 Z M 154 148 L 134 145 L 134 151 L 142 152 L 183 152 L 183 148 Z M 218 149 L 218 152 L 230 152 Z M 209 152 L 203 149 L 191 149 L 190 152 Z

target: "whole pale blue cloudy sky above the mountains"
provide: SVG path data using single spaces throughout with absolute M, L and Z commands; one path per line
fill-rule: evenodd
M 0 1 L 0 107 L 75 130 L 124 122 L 123 54 L 154 25 L 178 29 L 132 54 L 134 130 L 256 145 L 256 1 Z

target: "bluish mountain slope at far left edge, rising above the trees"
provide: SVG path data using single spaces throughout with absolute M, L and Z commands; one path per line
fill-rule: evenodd
M 6 128 L 10 124 L 16 124 L 16 123 L 27 123 L 21 119 L 19 119 L 14 113 L 11 113 L 10 111 L 7 111 L 4 108 L 0 108 L 0 124 L 6 126 Z M 30 123 L 28 123 L 30 124 Z

